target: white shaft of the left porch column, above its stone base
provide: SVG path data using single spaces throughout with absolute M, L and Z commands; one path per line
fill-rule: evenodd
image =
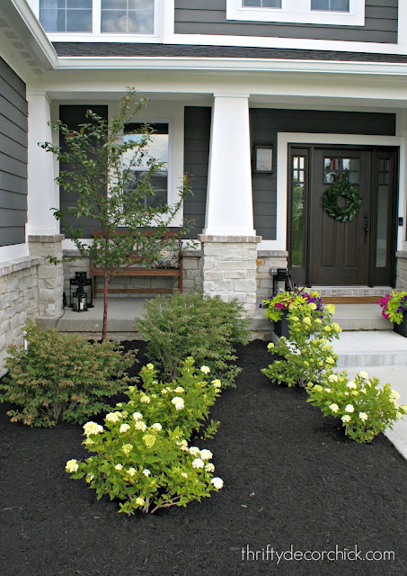
M 58 208 L 54 155 L 39 142 L 51 142 L 49 98 L 46 94 L 28 94 L 28 221 L 27 236 L 58 234 L 59 222 L 52 208 Z

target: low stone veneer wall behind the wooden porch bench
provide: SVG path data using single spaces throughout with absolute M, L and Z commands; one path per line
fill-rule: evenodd
M 77 250 L 64 250 L 64 257 L 75 257 L 79 254 Z M 183 292 L 191 290 L 202 290 L 202 266 L 201 251 L 195 249 L 182 250 L 183 260 Z M 89 273 L 89 259 L 77 258 L 64 262 L 64 291 L 66 300 L 69 299 L 69 278 L 73 278 L 75 272 Z M 112 289 L 123 290 L 125 288 L 176 288 L 178 280 L 175 278 L 130 278 L 128 276 L 116 276 L 111 279 L 109 286 Z M 98 287 L 102 288 L 102 278 L 98 278 Z M 144 293 L 110 293 L 110 297 L 128 298 L 131 296 L 140 297 Z M 101 294 L 102 296 L 102 294 Z M 101 297 L 99 296 L 99 297 Z

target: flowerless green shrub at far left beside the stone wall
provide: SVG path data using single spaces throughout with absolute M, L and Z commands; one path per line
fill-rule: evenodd
M 116 342 L 90 344 L 56 329 L 40 329 L 28 321 L 28 347 L 8 348 L 9 375 L 0 383 L 0 401 L 21 407 L 9 410 L 12 422 L 52 427 L 58 421 L 82 424 L 102 410 L 110 410 L 105 397 L 121 392 L 133 379 L 125 370 L 135 355 L 121 355 Z

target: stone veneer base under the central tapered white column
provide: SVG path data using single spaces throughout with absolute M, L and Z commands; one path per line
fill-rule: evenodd
M 202 244 L 202 289 L 218 294 L 225 302 L 234 298 L 246 314 L 256 311 L 257 244 L 261 236 L 208 236 L 200 234 Z

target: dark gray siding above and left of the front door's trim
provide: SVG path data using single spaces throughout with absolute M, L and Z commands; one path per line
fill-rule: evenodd
M 252 108 L 250 125 L 252 144 L 274 146 L 276 163 L 278 132 L 394 136 L 395 114 Z M 254 229 L 263 239 L 274 240 L 277 226 L 277 171 L 274 170 L 270 175 L 253 174 L 252 193 Z

